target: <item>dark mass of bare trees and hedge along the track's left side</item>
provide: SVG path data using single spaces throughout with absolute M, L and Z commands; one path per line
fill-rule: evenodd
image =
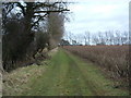
M 66 11 L 69 11 L 67 2 L 62 1 L 3 2 L 3 69 L 11 71 L 20 66 L 17 61 L 28 56 L 35 58 L 46 47 L 55 48 L 64 32 Z

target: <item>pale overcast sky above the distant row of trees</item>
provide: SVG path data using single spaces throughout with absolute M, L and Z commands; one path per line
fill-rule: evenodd
M 73 0 L 69 5 L 71 22 L 66 23 L 66 30 L 82 34 L 105 30 L 129 29 L 130 0 Z

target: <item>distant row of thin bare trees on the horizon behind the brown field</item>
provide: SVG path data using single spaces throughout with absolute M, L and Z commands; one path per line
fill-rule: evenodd
M 73 35 L 72 33 L 67 33 L 64 36 L 64 45 L 129 45 L 129 32 L 99 32 L 92 34 L 85 32 L 81 35 Z

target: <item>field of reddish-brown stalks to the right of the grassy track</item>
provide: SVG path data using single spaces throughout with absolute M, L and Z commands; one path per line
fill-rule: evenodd
M 64 49 L 102 66 L 119 84 L 128 86 L 129 46 L 64 46 Z

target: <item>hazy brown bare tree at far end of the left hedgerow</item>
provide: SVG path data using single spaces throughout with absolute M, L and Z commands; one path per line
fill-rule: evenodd
M 51 13 L 48 16 L 48 33 L 50 49 L 55 48 L 64 33 L 64 15 L 61 13 Z

